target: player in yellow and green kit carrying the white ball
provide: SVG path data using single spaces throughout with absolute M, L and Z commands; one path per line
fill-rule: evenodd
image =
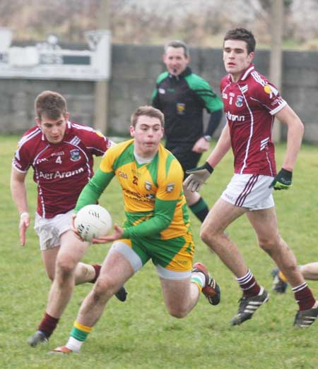
M 185 317 L 201 291 L 212 305 L 220 302 L 220 288 L 206 267 L 200 262 L 192 265 L 194 243 L 182 192 L 183 171 L 177 159 L 160 144 L 163 126 L 164 117 L 158 109 L 139 107 L 131 116 L 133 139 L 107 151 L 78 198 L 75 212 L 96 203 L 117 176 L 126 221 L 123 227 L 115 224 L 113 234 L 94 240 L 114 243 L 100 277 L 82 303 L 69 341 L 53 352 L 78 352 L 107 301 L 150 259 L 157 269 L 170 315 Z

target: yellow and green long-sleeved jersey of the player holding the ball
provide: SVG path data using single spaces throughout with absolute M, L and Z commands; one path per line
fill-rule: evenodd
M 114 176 L 124 196 L 123 238 L 159 237 L 165 240 L 191 231 L 182 191 L 182 167 L 163 145 L 159 145 L 155 157 L 146 164 L 136 162 L 134 140 L 107 150 L 98 171 L 83 188 L 76 212 L 96 203 Z

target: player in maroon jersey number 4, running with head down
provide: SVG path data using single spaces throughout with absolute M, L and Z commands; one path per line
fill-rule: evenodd
M 35 231 L 47 276 L 52 280 L 45 317 L 28 341 L 45 342 L 66 308 L 73 286 L 94 283 L 100 265 L 79 262 L 89 243 L 71 230 L 71 214 L 82 188 L 93 176 L 93 155 L 102 156 L 112 142 L 93 128 L 69 120 L 66 100 L 44 91 L 35 99 L 36 126 L 18 143 L 11 172 L 11 193 L 20 213 L 20 243 L 30 226 L 25 177 L 30 167 L 37 183 Z M 117 292 L 124 301 L 124 287 Z

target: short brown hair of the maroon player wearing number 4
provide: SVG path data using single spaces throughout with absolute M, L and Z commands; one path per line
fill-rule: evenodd
M 58 92 L 43 91 L 35 99 L 34 110 L 40 120 L 43 115 L 49 119 L 59 119 L 67 113 L 66 99 Z

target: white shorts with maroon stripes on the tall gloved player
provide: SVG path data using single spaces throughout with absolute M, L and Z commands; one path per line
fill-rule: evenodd
M 273 188 L 269 188 L 272 181 L 271 176 L 234 174 L 220 198 L 248 210 L 269 209 L 275 206 Z

